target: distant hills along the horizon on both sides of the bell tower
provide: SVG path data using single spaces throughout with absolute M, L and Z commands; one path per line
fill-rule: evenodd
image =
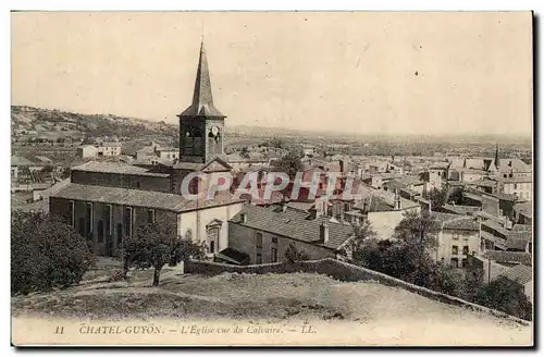
M 168 137 L 176 139 L 177 123 L 154 122 L 114 114 L 79 114 L 55 109 L 41 109 L 27 106 L 11 107 L 12 135 L 34 136 L 55 139 L 59 137 L 112 136 L 143 138 Z M 329 141 L 344 144 L 381 143 L 384 145 L 431 145 L 446 147 L 467 147 L 468 144 L 487 146 L 494 150 L 500 146 L 521 145 L 531 147 L 531 136 L 521 135 L 390 135 L 373 133 L 341 133 L 318 130 L 293 130 L 287 127 L 262 127 L 230 125 L 226 123 L 225 136 L 237 141 L 244 137 L 282 137 L 295 141 Z M 236 139 L 238 138 L 238 139 Z M 434 145 L 435 146 L 435 145 Z

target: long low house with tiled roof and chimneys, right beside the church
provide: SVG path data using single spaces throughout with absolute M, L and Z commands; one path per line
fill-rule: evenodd
M 309 259 L 337 258 L 353 236 L 348 223 L 313 217 L 287 205 L 245 205 L 228 221 L 228 248 L 247 255 L 249 264 L 284 261 L 290 245 Z

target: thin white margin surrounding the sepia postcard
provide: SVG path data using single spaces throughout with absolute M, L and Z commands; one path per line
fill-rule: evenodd
M 542 0 L 517 0 L 517 1 L 504 1 L 504 0 L 495 0 L 495 1 L 477 1 L 477 0 L 458 0 L 458 1 L 449 1 L 448 3 L 444 1 L 410 1 L 409 3 L 405 1 L 384 1 L 384 0 L 374 0 L 374 1 L 342 1 L 342 0 L 335 0 L 335 1 L 294 1 L 294 0 L 275 0 L 275 1 L 228 1 L 228 2 L 222 2 L 222 1 L 207 1 L 207 0 L 199 0 L 199 1 L 164 1 L 164 0 L 153 0 L 153 1 L 112 1 L 112 0 L 95 0 L 95 1 L 3 1 L 2 4 L 0 5 L 2 8 L 2 12 L 0 13 L 0 19 L 2 20 L 1 26 L 0 26 L 0 45 L 1 48 L 4 50 L 2 53 L 3 56 L 1 57 L 1 64 L 4 73 L 4 78 L 10 77 L 10 10 L 40 10 L 40 9 L 47 9 L 47 10 L 69 10 L 69 11 L 83 11 L 83 10 L 116 10 L 116 11 L 143 11 L 143 10 L 152 10 L 152 11 L 161 11 L 161 10 L 170 10 L 170 11 L 180 11 L 180 10 L 250 10 L 250 11 L 259 11 L 259 10 L 283 10 L 283 11 L 288 11 L 288 10 L 319 10 L 319 11 L 325 11 L 325 10 L 335 10 L 335 11 L 405 11 L 405 10 L 419 10 L 419 11 L 458 11 L 462 9 L 463 11 L 526 11 L 526 10 L 535 10 L 535 12 L 539 14 L 544 13 L 544 1 Z M 541 20 L 541 28 L 542 28 L 542 20 Z M 541 33 L 541 32 L 539 32 Z M 539 48 L 542 47 L 542 35 L 539 36 L 539 44 L 536 44 Z M 540 61 L 542 63 L 542 60 Z M 539 63 L 539 64 L 541 64 Z M 541 76 L 539 78 L 541 79 Z M 537 81 L 541 82 L 541 81 Z M 2 82 L 2 95 L 0 98 L 4 100 L 4 106 L 3 108 L 3 113 L 7 116 L 4 120 L 0 122 L 0 125 L 2 125 L 0 133 L 3 136 L 2 140 L 0 140 L 1 145 L 1 160 L 2 160 L 2 168 L 4 168 L 4 174 L 0 175 L 0 178 L 2 180 L 2 187 L 3 189 L 0 190 L 1 193 L 1 198 L 0 201 L 3 205 L 2 209 L 2 216 L 1 216 L 1 227 L 4 230 L 4 233 L 2 234 L 2 243 L 3 243 L 3 249 L 1 249 L 1 261 L 3 264 L 3 269 L 1 269 L 1 281 L 3 282 L 4 288 L 3 288 L 3 294 L 2 294 L 2 304 L 1 306 L 1 332 L 2 332 L 2 343 L 1 345 L 4 348 L 8 348 L 8 350 L 2 350 L 2 355 L 4 352 L 9 354 L 15 353 L 13 348 L 9 347 L 10 343 L 10 295 L 9 291 L 10 287 L 8 286 L 9 284 L 9 278 L 10 278 L 10 263 L 9 263 L 9 251 L 10 251 L 10 233 L 9 226 L 10 226 L 10 218 L 9 218 L 9 202 L 10 202 L 10 196 L 9 196 L 9 190 L 8 187 L 10 186 L 10 180 L 8 178 L 8 163 L 10 161 L 10 112 L 9 108 L 11 104 L 11 97 L 10 97 L 10 81 L 3 81 Z M 535 98 L 539 102 L 544 102 L 543 100 L 543 95 L 542 90 L 539 91 L 539 98 Z M 542 110 L 542 108 L 541 108 Z M 540 149 L 542 149 L 540 147 Z M 541 172 L 539 171 L 539 174 Z M 536 183 L 536 185 L 540 186 L 540 181 Z M 539 200 L 541 199 L 541 195 L 539 194 Z M 542 214 L 540 211 L 535 210 L 539 213 L 539 218 L 535 219 L 535 221 L 541 221 Z M 544 244 L 537 244 L 539 247 L 537 256 L 542 257 L 542 249 Z M 540 294 L 536 294 L 536 297 L 540 297 Z M 540 305 L 540 298 L 536 304 Z M 482 333 L 485 333 L 485 331 L 482 331 Z M 97 350 L 98 353 L 107 356 L 107 355 L 113 355 L 114 352 L 107 352 L 107 350 Z M 95 353 L 97 353 L 95 352 Z M 282 356 L 288 356 L 297 350 L 269 350 L 268 353 L 273 353 Z M 317 350 L 311 350 L 310 353 L 316 353 Z M 325 349 L 322 350 L 321 353 L 331 353 L 333 350 L 331 349 Z M 374 353 L 371 350 L 353 350 L 354 353 Z M 406 352 L 406 350 L 403 350 Z M 465 352 L 465 350 L 459 350 L 455 352 L 457 353 L 474 353 L 475 350 L 470 350 L 470 352 Z M 49 350 L 49 353 L 55 354 L 55 350 Z M 74 353 L 74 352 L 72 352 Z M 75 352 L 76 354 L 81 352 Z M 121 352 L 115 352 L 115 354 L 119 354 Z M 132 353 L 125 352 L 125 353 Z M 161 352 L 161 350 L 146 350 L 146 353 L 152 353 L 153 355 L 165 355 L 168 352 Z M 175 353 L 182 353 L 182 354 L 195 354 L 198 352 L 194 350 L 178 350 Z M 206 352 L 206 354 L 218 354 L 218 353 L 225 353 L 225 350 L 222 352 Z M 240 354 L 240 353 L 259 353 L 257 350 L 246 350 L 246 352 L 240 352 L 240 350 L 232 350 L 231 353 L 234 354 Z M 388 352 L 392 353 L 392 352 Z M 387 354 L 388 354 L 387 353 Z M 493 353 L 493 352 L 492 352 Z M 512 354 L 522 354 L 523 352 L 512 352 Z M 200 353 L 201 354 L 201 353 Z

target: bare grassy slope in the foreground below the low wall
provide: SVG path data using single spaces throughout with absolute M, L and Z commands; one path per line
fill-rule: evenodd
M 417 343 L 436 331 L 442 331 L 435 336 L 440 344 L 531 342 L 531 327 L 375 282 L 347 283 L 309 273 L 223 273 L 206 278 L 165 270 L 161 285 L 151 287 L 149 270 L 138 271 L 128 283 L 109 283 L 107 276 L 106 271 L 92 271 L 79 286 L 13 297 L 13 316 L 108 321 L 127 318 L 321 321 L 339 327 L 357 324 L 369 331 L 361 337 L 370 343 Z

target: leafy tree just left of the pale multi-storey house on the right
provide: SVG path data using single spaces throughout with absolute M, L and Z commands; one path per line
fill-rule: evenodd
M 437 221 L 429 211 L 407 211 L 395 227 L 394 237 L 423 248 L 433 248 L 437 244 L 436 227 Z

